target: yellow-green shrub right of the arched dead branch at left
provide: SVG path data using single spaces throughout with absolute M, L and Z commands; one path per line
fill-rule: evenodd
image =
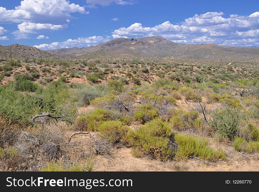
M 96 131 L 99 124 L 103 121 L 116 119 L 114 111 L 105 109 L 95 109 L 87 115 L 79 117 L 76 120 L 76 130 Z

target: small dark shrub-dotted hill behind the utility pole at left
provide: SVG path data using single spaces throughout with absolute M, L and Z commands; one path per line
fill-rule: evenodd
M 63 57 L 54 53 L 49 53 L 47 51 L 40 50 L 36 47 L 13 44 L 11 45 L 12 58 L 16 60 L 38 60 L 42 58 L 53 58 L 53 59 L 62 59 Z M 9 60 L 10 59 L 10 46 L 1 46 L 0 45 L 0 59 Z

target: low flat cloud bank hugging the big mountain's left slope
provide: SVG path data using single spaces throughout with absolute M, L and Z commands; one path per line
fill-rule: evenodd
M 58 48 L 72 48 L 72 47 L 89 47 L 97 45 L 99 43 L 104 43 L 109 41 L 109 36 L 92 36 L 92 37 L 80 37 L 77 39 L 68 39 L 64 42 L 53 42 L 50 44 L 35 45 L 34 47 L 48 50 L 48 49 L 58 49 Z

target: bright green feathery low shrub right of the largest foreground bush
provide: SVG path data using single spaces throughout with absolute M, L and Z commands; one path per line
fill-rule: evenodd
M 210 161 L 226 159 L 225 153 L 223 151 L 214 150 L 208 147 L 206 139 L 177 134 L 175 135 L 175 142 L 179 146 L 177 148 L 175 159 L 186 160 L 192 156 Z

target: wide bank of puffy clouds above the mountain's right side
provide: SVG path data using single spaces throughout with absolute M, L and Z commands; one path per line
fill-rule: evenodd
M 224 17 L 223 12 L 207 12 L 186 18 L 180 24 L 166 21 L 143 27 L 134 23 L 112 32 L 112 37 L 145 37 L 160 35 L 176 43 L 216 43 L 229 46 L 254 46 L 259 38 L 259 12 L 249 16 L 237 14 Z M 253 39 L 253 41 L 251 40 Z

